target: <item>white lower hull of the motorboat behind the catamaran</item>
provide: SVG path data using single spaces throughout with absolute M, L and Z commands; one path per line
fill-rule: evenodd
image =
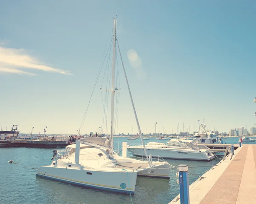
M 127 149 L 134 155 L 145 156 L 144 149 L 131 148 Z M 209 161 L 214 158 L 214 155 L 207 155 L 205 152 L 186 152 L 183 150 L 172 150 L 172 149 L 147 149 L 148 153 L 152 157 L 161 157 L 168 159 L 184 159 L 184 160 L 200 160 L 200 161 Z

